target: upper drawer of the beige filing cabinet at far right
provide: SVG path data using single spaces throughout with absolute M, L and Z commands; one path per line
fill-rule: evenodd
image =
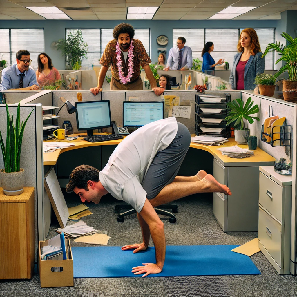
M 282 222 L 282 205 L 285 187 L 281 187 L 271 178 L 260 172 L 259 203 L 276 219 Z

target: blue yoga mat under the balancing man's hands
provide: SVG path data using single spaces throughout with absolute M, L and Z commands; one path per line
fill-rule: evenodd
M 261 274 L 252 260 L 231 252 L 237 245 L 167 246 L 161 273 L 147 277 L 182 275 Z M 141 277 L 131 272 L 142 263 L 156 263 L 154 247 L 133 254 L 121 247 L 72 247 L 73 276 L 81 277 Z

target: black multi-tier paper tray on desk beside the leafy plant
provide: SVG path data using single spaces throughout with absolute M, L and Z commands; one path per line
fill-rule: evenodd
M 230 125 L 226 125 L 225 117 L 228 116 L 228 105 L 227 102 L 231 101 L 231 96 L 228 93 L 224 94 L 226 98 L 222 98 L 221 102 L 203 102 L 203 97 L 206 97 L 205 94 L 196 94 L 195 96 L 195 133 L 197 136 L 199 135 L 215 135 L 215 136 L 221 136 L 224 138 L 230 137 Z M 201 98 L 202 97 L 202 98 Z M 219 97 L 219 96 L 216 96 Z M 201 110 L 202 108 L 222 108 L 221 113 L 213 113 L 213 112 L 205 112 Z M 203 123 L 200 119 L 201 116 L 204 116 L 206 118 L 216 118 L 216 119 L 223 119 L 221 123 Z M 203 132 L 201 130 L 201 127 L 209 127 L 209 128 L 224 128 L 221 133 L 216 132 Z

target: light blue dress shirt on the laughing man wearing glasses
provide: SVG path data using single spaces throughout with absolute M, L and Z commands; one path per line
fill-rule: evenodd
M 19 89 L 20 84 L 20 70 L 18 69 L 17 63 L 12 64 L 2 70 L 2 81 L 0 84 L 0 91 Z M 23 78 L 24 88 L 36 85 L 36 74 L 34 69 L 29 66 L 29 69 L 24 72 Z

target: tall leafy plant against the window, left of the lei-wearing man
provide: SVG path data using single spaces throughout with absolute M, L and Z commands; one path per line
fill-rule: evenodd
M 83 34 L 80 30 L 76 31 L 75 34 L 70 31 L 66 40 L 59 39 L 57 49 L 62 51 L 66 63 L 70 65 L 71 69 L 79 70 L 82 59 L 88 59 L 88 44 L 83 42 Z

